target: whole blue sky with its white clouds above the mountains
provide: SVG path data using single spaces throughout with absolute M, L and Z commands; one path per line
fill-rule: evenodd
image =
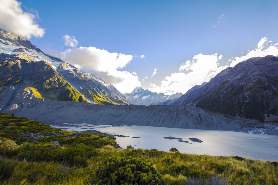
M 277 0 L 0 4 L 0 28 L 121 93 L 186 93 L 250 57 L 278 56 Z

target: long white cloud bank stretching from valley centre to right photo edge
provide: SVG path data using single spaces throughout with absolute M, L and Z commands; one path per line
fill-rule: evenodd
M 221 72 L 227 67 L 235 66 L 241 61 L 245 61 L 251 57 L 274 55 L 278 56 L 278 43 L 271 44 L 271 41 L 267 41 L 266 37 L 262 38 L 257 47 L 249 51 L 245 56 L 234 57 L 229 59 L 227 65 L 219 65 L 219 61 L 223 55 L 217 53 L 212 55 L 195 55 L 192 60 L 186 61 L 180 65 L 179 72 L 172 73 L 161 81 L 161 85 L 151 84 L 148 90 L 157 93 L 164 93 L 171 95 L 173 93 L 186 93 L 191 87 L 195 85 L 201 85 L 203 82 L 208 82 L 216 74 Z

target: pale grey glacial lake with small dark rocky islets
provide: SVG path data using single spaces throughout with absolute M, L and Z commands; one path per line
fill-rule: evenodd
M 128 136 L 116 136 L 116 142 L 122 148 L 132 145 L 135 149 L 143 148 L 150 150 L 155 148 L 161 151 L 169 151 L 170 148 L 175 147 L 180 152 L 188 154 L 240 156 L 251 159 L 278 161 L 278 136 L 275 135 L 135 125 L 94 125 L 88 123 L 62 123 L 50 126 L 68 131 L 97 130 L 107 134 Z M 180 139 L 164 139 L 164 137 L 182 138 L 182 141 L 188 141 L 189 143 L 179 142 L 178 140 Z M 197 138 L 203 142 L 193 142 L 188 138 Z

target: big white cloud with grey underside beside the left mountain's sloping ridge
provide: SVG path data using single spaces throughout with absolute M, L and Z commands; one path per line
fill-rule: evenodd
M 135 87 L 141 86 L 136 72 L 119 71 L 132 60 L 132 55 L 110 53 L 95 47 L 69 48 L 58 55 L 54 54 L 114 85 L 121 93 L 130 93 Z

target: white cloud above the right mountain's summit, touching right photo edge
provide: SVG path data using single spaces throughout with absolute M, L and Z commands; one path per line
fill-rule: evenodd
M 278 47 L 277 47 L 278 43 L 273 45 L 273 44 L 270 44 L 272 42 L 271 40 L 269 42 L 267 42 L 267 40 L 268 40 L 268 38 L 266 38 L 266 37 L 262 38 L 258 42 L 257 48 L 249 51 L 245 56 L 235 57 L 235 59 L 232 60 L 230 66 L 234 67 L 239 62 L 245 61 L 252 57 L 257 57 L 257 56 L 264 57 L 267 55 L 278 56 Z

